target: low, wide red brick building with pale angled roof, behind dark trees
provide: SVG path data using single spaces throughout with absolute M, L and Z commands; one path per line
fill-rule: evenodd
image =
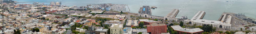
M 182 34 L 184 32 L 186 32 L 187 34 L 202 34 L 204 32 L 204 30 L 200 29 L 200 28 L 182 28 L 179 25 L 173 25 L 171 26 L 175 31 L 178 32 L 178 34 Z

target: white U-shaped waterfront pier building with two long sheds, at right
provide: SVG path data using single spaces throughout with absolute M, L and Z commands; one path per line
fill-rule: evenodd
M 205 15 L 205 11 L 199 11 L 191 20 L 184 20 L 184 23 L 196 24 L 196 25 L 211 25 L 217 28 L 231 28 L 231 17 L 232 15 L 223 13 L 220 17 L 220 21 L 205 20 L 202 19 Z

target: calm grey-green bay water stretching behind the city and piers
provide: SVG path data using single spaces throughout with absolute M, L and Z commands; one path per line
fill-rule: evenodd
M 256 0 L 13 0 L 17 2 L 62 2 L 67 6 L 86 6 L 89 4 L 125 4 L 131 13 L 138 13 L 142 6 L 156 6 L 151 9 L 152 15 L 166 16 L 172 9 L 179 9 L 176 17 L 188 16 L 191 19 L 198 11 L 205 11 L 203 19 L 218 20 L 223 12 L 244 13 L 246 16 L 256 18 Z M 229 1 L 229 2 L 223 2 Z M 33 4 L 33 3 L 18 3 Z M 50 3 L 45 3 L 50 4 Z M 129 9 L 127 9 L 129 10 Z

